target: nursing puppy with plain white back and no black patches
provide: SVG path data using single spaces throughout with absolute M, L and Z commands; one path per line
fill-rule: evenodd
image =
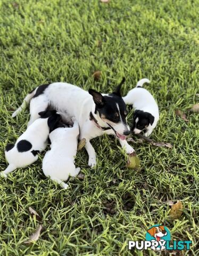
M 47 151 L 44 156 L 42 169 L 46 177 L 49 176 L 63 188 L 68 188 L 63 181 L 68 180 L 69 175 L 76 176 L 80 171 L 80 168 L 74 165 L 78 135 L 79 125 L 74 119 L 73 127 L 68 128 L 62 125 L 49 134 L 51 150 Z

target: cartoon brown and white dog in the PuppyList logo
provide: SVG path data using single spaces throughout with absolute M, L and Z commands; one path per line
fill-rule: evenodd
M 147 233 L 155 238 L 155 240 L 152 240 L 153 242 L 155 242 L 155 241 L 164 242 L 163 237 L 167 236 L 167 231 L 164 229 L 164 225 L 159 225 L 159 226 L 156 226 L 156 227 L 152 227 L 152 228 L 147 230 Z M 154 250 L 154 251 L 155 250 L 163 251 L 165 249 L 165 246 L 161 246 L 161 248 L 152 246 L 151 249 Z

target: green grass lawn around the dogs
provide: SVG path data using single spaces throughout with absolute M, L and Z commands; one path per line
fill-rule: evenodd
M 0 171 L 7 166 L 6 144 L 26 130 L 29 119 L 28 109 L 15 119 L 13 110 L 47 82 L 108 93 L 125 76 L 125 95 L 147 77 L 161 113 L 151 138 L 173 145 L 134 143 L 141 166 L 130 170 L 114 137 L 96 138 L 97 167 L 87 166 L 81 150 L 76 162 L 85 177 L 70 179 L 68 190 L 45 177 L 44 154 L 0 178 L 0 255 L 156 255 L 130 252 L 127 244 L 162 222 L 172 239 L 194 244 L 172 255 L 198 255 L 198 114 L 189 111 L 198 102 L 198 1 L 2 0 L 0 7 Z M 96 70 L 102 72 L 99 81 Z M 177 220 L 169 216 L 169 200 L 183 203 Z M 41 221 L 30 216 L 29 206 Z M 27 246 L 40 222 L 38 241 Z

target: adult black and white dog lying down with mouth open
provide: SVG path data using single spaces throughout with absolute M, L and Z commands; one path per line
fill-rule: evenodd
M 29 125 L 39 117 L 40 111 L 44 111 L 49 106 L 62 113 L 63 121 L 65 121 L 64 116 L 74 116 L 79 123 L 80 139 L 86 139 L 88 165 L 94 166 L 96 154 L 90 140 L 104 133 L 115 134 L 126 153 L 134 152 L 126 141 L 130 128 L 126 121 L 126 105 L 120 93 L 124 81 L 125 79 L 117 90 L 110 94 L 101 94 L 93 89 L 87 92 L 75 85 L 61 82 L 41 85 L 26 96 L 12 116 L 16 116 L 29 102 L 31 115 Z

